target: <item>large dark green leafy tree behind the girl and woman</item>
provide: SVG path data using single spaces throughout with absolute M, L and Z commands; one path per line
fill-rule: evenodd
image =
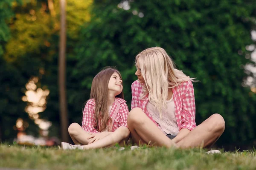
M 194 83 L 197 124 L 220 113 L 226 130 L 218 146 L 248 143 L 256 137 L 256 95 L 241 83 L 244 65 L 250 62 L 244 56 L 250 55 L 245 46 L 253 43 L 255 9 L 250 0 L 95 0 L 93 17 L 76 45 L 79 63 L 73 77 L 89 89 L 100 68 L 117 66 L 130 103 L 136 54 L 160 46 L 179 69 L 200 80 Z M 76 100 L 86 101 L 86 96 Z

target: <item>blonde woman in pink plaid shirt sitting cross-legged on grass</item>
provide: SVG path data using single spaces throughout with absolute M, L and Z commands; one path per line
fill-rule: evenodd
M 195 124 L 193 78 L 175 68 L 160 47 L 136 56 L 138 80 L 131 85 L 128 128 L 137 144 L 165 147 L 210 147 L 224 132 L 221 115 L 213 114 Z

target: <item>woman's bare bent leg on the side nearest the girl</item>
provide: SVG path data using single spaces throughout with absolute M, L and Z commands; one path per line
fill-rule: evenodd
M 154 146 L 176 146 L 175 142 L 169 139 L 140 108 L 134 108 L 129 112 L 127 124 L 134 142 L 138 145 L 149 143 Z

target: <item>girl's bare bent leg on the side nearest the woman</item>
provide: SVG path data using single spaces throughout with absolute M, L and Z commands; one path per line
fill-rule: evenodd
M 124 139 L 128 140 L 130 135 L 130 131 L 127 127 L 118 127 L 116 131 L 111 133 L 108 136 L 105 136 L 103 139 L 100 139 L 96 142 L 93 142 L 91 144 L 87 144 L 83 147 L 83 149 L 95 149 L 95 148 L 101 148 L 101 147 L 107 147 L 111 146 L 113 144 L 122 142 Z

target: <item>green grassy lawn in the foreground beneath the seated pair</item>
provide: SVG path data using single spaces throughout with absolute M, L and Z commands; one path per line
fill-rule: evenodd
M 207 155 L 205 150 L 200 149 L 61 150 L 57 147 L 1 144 L 0 169 L 3 167 L 40 170 L 255 170 L 256 152 Z

